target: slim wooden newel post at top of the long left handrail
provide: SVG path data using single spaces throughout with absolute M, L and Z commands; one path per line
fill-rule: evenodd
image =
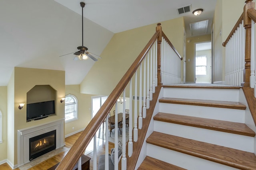
M 158 23 L 156 26 L 156 31 L 160 31 L 157 38 L 157 85 L 162 86 L 161 80 L 161 42 L 162 42 L 162 27 L 161 23 Z

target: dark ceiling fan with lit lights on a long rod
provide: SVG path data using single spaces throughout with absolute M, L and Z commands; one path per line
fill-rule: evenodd
M 83 12 L 83 8 L 85 6 L 84 2 L 80 2 L 80 6 L 82 7 L 82 46 L 78 46 L 77 49 L 79 51 L 73 52 L 74 55 L 76 55 L 76 57 L 74 58 L 74 60 L 87 60 L 89 57 L 93 60 L 93 61 L 98 61 L 97 58 L 101 58 L 100 56 L 90 53 L 88 52 L 88 48 L 84 46 L 84 12 Z M 72 54 L 72 53 L 69 53 Z M 69 55 L 69 54 L 65 54 L 65 55 Z M 62 57 L 64 55 L 61 55 L 59 57 Z M 95 56 L 95 57 L 94 57 Z

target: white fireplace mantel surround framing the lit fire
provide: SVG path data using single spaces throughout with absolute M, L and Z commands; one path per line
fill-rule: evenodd
M 56 130 L 56 149 L 65 145 L 64 139 L 64 122 L 65 119 L 58 119 L 40 125 L 35 125 L 18 130 L 18 167 L 22 166 L 29 160 L 29 139 L 37 135 Z

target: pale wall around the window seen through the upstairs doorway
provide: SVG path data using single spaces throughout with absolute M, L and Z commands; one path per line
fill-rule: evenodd
M 206 75 L 196 76 L 196 82 L 210 83 L 211 82 L 211 52 L 212 50 L 196 51 L 196 56 L 206 56 Z

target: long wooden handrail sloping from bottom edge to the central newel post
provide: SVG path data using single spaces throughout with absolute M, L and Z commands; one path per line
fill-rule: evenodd
M 149 52 L 150 48 L 152 47 L 156 39 L 159 37 L 159 35 L 160 31 L 157 30 L 156 33 L 154 33 L 154 35 L 150 39 L 150 41 L 147 43 L 147 45 L 144 47 L 142 52 L 138 55 L 136 60 L 132 63 L 130 68 L 124 74 L 120 82 L 118 82 L 112 93 L 108 96 L 107 100 L 102 105 L 102 107 L 100 107 L 99 111 L 96 113 L 96 115 L 92 118 L 90 123 L 84 129 L 80 137 L 74 143 L 73 147 L 69 150 L 69 152 L 63 158 L 63 160 L 60 162 L 56 170 L 70 170 L 75 166 L 76 162 L 78 161 L 78 159 L 90 143 L 92 137 L 100 127 L 101 123 L 104 121 L 105 117 L 110 112 L 111 108 L 116 103 L 119 96 L 122 94 L 124 88 L 130 81 L 134 73 L 136 72 L 137 68 L 140 66 L 140 63 L 147 55 L 147 53 Z

